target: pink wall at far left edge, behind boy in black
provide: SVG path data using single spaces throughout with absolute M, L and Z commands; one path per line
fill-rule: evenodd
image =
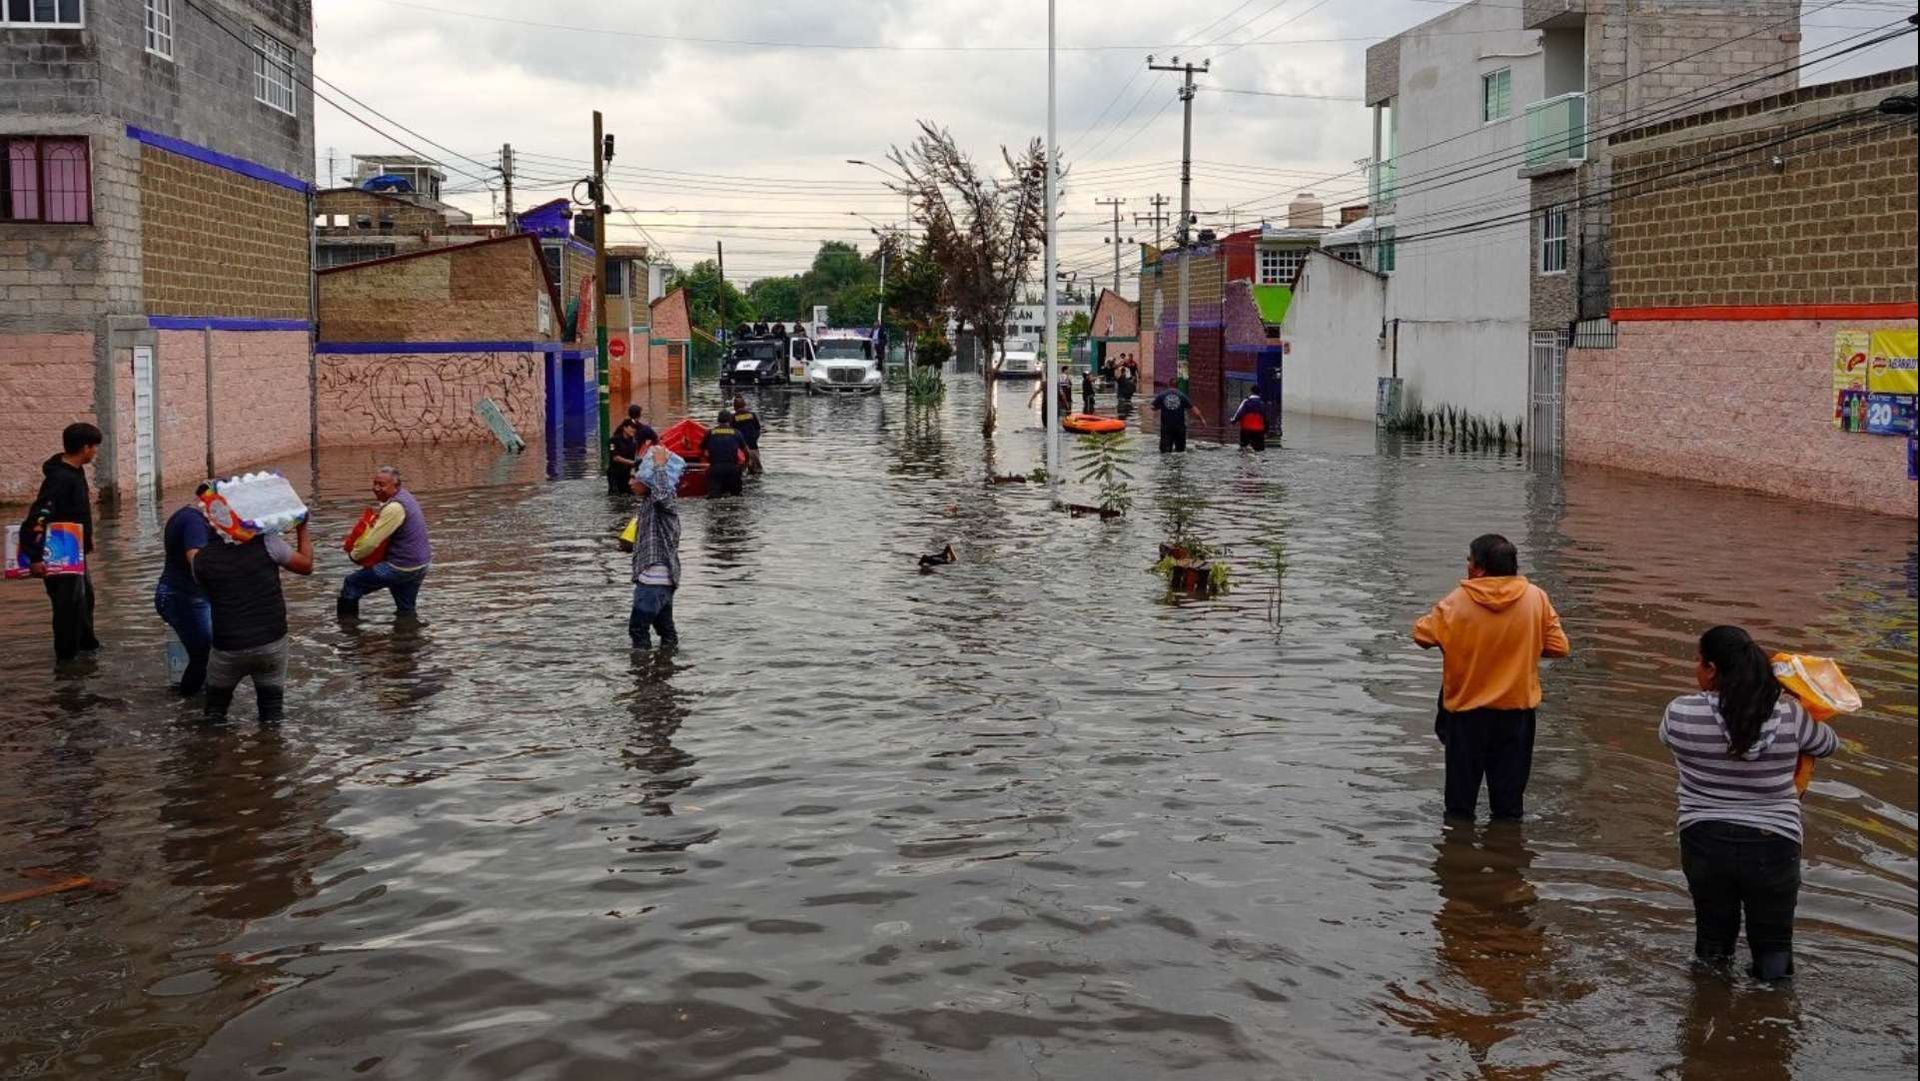
M 0 503 L 40 488 L 40 463 L 60 430 L 94 417 L 94 336 L 0 334 Z

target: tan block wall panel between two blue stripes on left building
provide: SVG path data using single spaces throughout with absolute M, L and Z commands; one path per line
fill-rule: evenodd
M 140 148 L 148 315 L 311 319 L 303 194 Z

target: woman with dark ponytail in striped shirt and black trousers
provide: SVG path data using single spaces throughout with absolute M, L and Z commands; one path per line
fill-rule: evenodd
M 1667 707 L 1661 743 L 1680 766 L 1680 868 L 1693 893 L 1693 956 L 1724 964 L 1747 918 L 1755 979 L 1793 975 L 1801 810 L 1793 766 L 1839 739 L 1782 693 L 1738 626 L 1699 636 L 1699 693 Z

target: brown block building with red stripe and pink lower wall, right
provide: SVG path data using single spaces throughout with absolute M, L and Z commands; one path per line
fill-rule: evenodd
M 1617 334 L 1567 355 L 1569 457 L 1914 516 L 1907 440 L 1836 419 L 1836 355 L 1916 328 L 1914 88 L 1907 67 L 1611 136 Z

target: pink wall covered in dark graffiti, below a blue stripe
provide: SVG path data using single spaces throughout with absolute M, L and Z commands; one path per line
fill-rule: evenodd
M 321 428 L 349 440 L 409 445 L 488 442 L 474 413 L 492 397 L 520 430 L 545 417 L 540 353 L 321 357 Z

